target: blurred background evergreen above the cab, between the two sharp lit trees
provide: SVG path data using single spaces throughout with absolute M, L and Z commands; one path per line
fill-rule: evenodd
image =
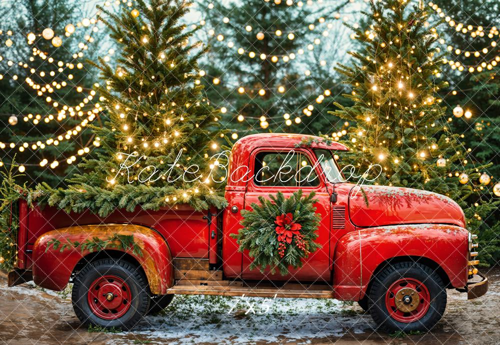
M 337 125 L 338 118 L 325 109 L 336 98 L 344 102 L 337 75 L 331 73 L 342 41 L 331 39 L 342 26 L 335 11 L 344 5 L 201 2 L 212 46 L 204 68 L 206 94 L 221 109 L 233 139 L 262 131 L 317 134 L 343 129 L 343 121 Z

